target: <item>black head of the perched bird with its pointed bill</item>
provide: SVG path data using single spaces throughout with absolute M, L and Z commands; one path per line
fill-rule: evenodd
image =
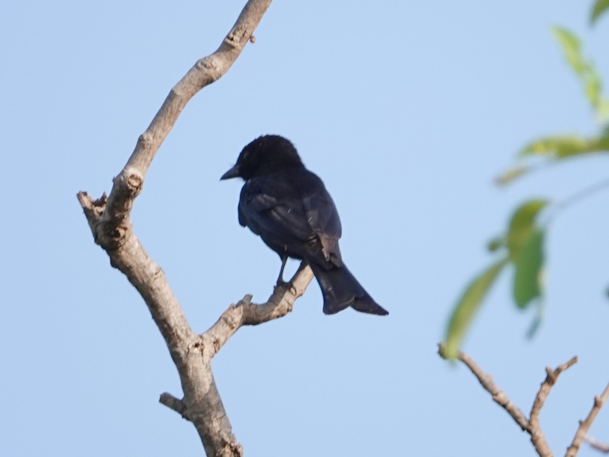
M 294 145 L 283 136 L 265 135 L 245 146 L 237 163 L 220 180 L 243 178 L 272 173 L 290 166 L 303 166 Z

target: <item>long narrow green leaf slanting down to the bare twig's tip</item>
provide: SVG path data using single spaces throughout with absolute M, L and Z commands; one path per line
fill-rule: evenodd
M 461 341 L 465 337 L 474 315 L 480 308 L 482 299 L 487 295 L 488 289 L 495 282 L 499 271 L 507 262 L 506 257 L 491 265 L 482 274 L 474 278 L 463 292 L 463 296 L 457 302 L 449 319 L 448 329 L 446 329 L 446 358 L 455 358 L 459 354 Z

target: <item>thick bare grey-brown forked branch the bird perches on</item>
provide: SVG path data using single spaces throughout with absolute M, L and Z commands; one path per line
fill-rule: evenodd
M 169 287 L 161 267 L 146 253 L 130 220 L 135 198 L 141 193 L 147 170 L 184 106 L 200 89 L 228 71 L 248 40 L 270 0 L 250 0 L 222 44 L 202 58 L 171 89 L 121 173 L 113 180 L 110 195 L 94 200 L 86 192 L 77 195 L 94 240 L 105 249 L 110 263 L 127 276 L 139 291 L 166 341 L 180 375 L 183 398 L 162 394 L 160 402 L 194 424 L 208 456 L 242 456 L 211 371 L 211 358 L 228 338 L 244 325 L 261 324 L 286 315 L 302 295 L 313 274 L 301 265 L 292 287 L 276 287 L 269 301 L 256 305 L 245 296 L 231 305 L 207 332 L 195 333 Z

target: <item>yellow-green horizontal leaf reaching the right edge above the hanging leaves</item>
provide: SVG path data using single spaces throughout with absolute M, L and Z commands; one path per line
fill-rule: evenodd
M 528 144 L 519 154 L 558 160 L 598 151 L 609 151 L 609 134 L 587 139 L 576 135 L 540 138 Z

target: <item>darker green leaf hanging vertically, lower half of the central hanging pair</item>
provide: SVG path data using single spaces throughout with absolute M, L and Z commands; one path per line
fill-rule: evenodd
M 533 228 L 514 260 L 514 300 L 521 309 L 541 296 L 544 238 L 543 229 Z

